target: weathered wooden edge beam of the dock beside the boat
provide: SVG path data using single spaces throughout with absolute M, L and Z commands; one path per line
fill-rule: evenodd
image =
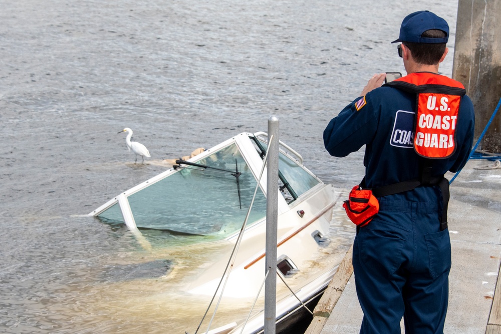
M 341 293 L 353 273 L 353 266 L 351 262 L 352 251 L 353 245 L 346 252 L 345 257 L 339 264 L 331 282 L 325 289 L 322 298 L 320 298 L 320 301 L 313 310 L 313 320 L 306 329 L 305 334 L 318 334 L 324 328 L 327 318 L 331 315 L 334 306 L 338 302 Z

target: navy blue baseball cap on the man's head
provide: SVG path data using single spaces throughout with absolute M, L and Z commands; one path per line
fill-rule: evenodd
M 445 32 L 444 38 L 421 37 L 423 33 L 430 29 L 438 29 Z M 397 42 L 411 43 L 447 43 L 449 39 L 449 25 L 444 19 L 429 11 L 419 11 L 407 15 L 400 26 L 400 35 Z

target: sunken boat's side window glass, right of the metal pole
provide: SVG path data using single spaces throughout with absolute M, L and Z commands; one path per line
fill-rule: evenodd
M 262 141 L 260 141 L 260 143 L 266 150 L 268 144 Z M 283 152 L 279 153 L 279 171 L 281 172 L 284 181 L 289 184 L 297 196 L 301 196 L 303 193 L 319 184 L 319 180 L 317 178 L 299 165 L 296 160 L 291 159 Z M 284 181 L 279 179 L 279 187 L 282 190 L 282 195 L 285 197 L 287 203 L 291 203 L 294 201 L 294 196 L 291 195 L 287 187 L 285 187 Z

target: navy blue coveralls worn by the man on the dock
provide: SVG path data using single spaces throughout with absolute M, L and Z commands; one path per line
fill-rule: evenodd
M 347 156 L 366 145 L 367 188 L 416 179 L 420 159 L 413 149 L 416 95 L 380 87 L 359 111 L 346 106 L 324 130 L 327 151 Z M 360 106 L 360 103 L 359 103 Z M 433 161 L 432 176 L 456 172 L 473 142 L 471 100 L 463 96 L 456 123 L 456 151 Z M 353 245 L 357 295 L 364 312 L 360 333 L 443 333 L 451 265 L 448 229 L 440 231 L 442 195 L 438 186 L 378 198 L 379 213 L 361 227 Z

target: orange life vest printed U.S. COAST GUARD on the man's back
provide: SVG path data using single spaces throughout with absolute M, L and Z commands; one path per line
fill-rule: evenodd
M 414 150 L 422 157 L 444 159 L 456 150 L 455 128 L 464 86 L 431 72 L 411 73 L 386 84 L 416 93 Z

